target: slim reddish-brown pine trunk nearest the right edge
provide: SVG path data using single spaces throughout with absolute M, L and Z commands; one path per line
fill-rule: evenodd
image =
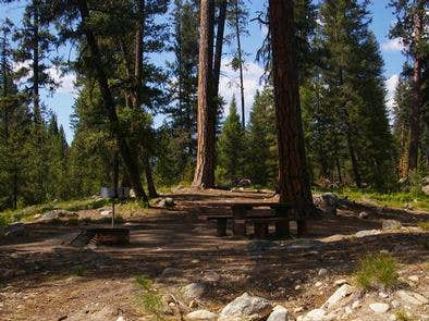
M 419 44 L 422 34 L 422 12 L 424 1 L 418 1 L 419 10 L 416 10 L 414 37 L 415 42 Z M 420 136 L 420 104 L 421 104 L 421 59 L 418 52 L 414 53 L 414 95 L 413 95 L 413 111 L 410 120 L 412 137 L 409 141 L 408 152 L 408 173 L 415 171 L 418 164 L 418 143 Z

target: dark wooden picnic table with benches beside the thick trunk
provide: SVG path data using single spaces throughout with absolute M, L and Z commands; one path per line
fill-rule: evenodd
M 289 221 L 292 219 L 290 215 L 291 207 L 286 203 L 278 201 L 248 201 L 248 202 L 213 202 L 210 207 L 231 208 L 232 215 L 209 215 L 209 221 L 217 221 L 217 235 L 225 236 L 228 221 L 233 222 L 233 235 L 245 236 L 247 224 L 253 223 L 255 227 L 255 237 L 266 238 L 268 235 L 269 224 L 275 224 L 275 235 L 279 237 L 290 236 Z M 250 211 L 254 208 L 270 208 L 274 214 L 255 215 Z

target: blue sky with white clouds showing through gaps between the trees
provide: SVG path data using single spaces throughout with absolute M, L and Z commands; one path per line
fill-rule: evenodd
M 388 107 L 392 106 L 393 90 L 397 83 L 397 76 L 401 73 L 402 64 L 405 61 L 405 57 L 401 52 L 401 44 L 397 40 L 391 40 L 388 37 L 389 28 L 394 22 L 392 11 L 388 7 L 389 0 L 373 0 L 370 5 L 370 12 L 372 14 L 371 29 L 375 32 L 377 39 L 380 44 L 381 52 L 384 59 L 384 77 L 387 79 L 388 89 Z M 17 1 L 12 4 L 1 4 L 0 20 L 4 17 L 12 18 L 19 24 L 23 8 L 26 1 Z M 257 12 L 263 10 L 265 1 L 252 0 L 248 4 L 250 11 L 250 17 L 255 17 Z M 248 53 L 246 58 L 246 69 L 244 72 L 245 78 L 245 101 L 246 101 L 246 113 L 248 115 L 249 109 L 253 103 L 253 97 L 257 89 L 261 87 L 260 75 L 262 74 L 262 67 L 255 63 L 255 53 L 259 48 L 265 32 L 260 28 L 258 23 L 249 23 L 249 36 L 243 39 L 243 49 Z M 237 74 L 229 66 L 230 55 L 229 52 L 234 48 L 225 48 L 225 55 L 222 65 L 222 77 L 221 77 L 221 95 L 226 101 L 230 101 L 232 96 L 235 94 L 238 96 L 237 88 Z M 64 49 L 60 53 L 65 53 Z M 171 54 L 160 54 L 155 59 L 161 63 L 170 59 Z M 68 141 L 71 143 L 73 139 L 73 131 L 70 127 L 70 115 L 73 112 L 73 103 L 76 95 L 76 90 L 73 88 L 74 76 L 72 74 L 62 76 L 59 73 L 52 71 L 52 76 L 60 81 L 62 84 L 52 96 L 44 94 L 42 100 L 45 104 L 52 110 L 59 120 L 59 123 L 63 125 L 66 134 Z M 248 116 L 247 116 L 248 119 Z M 156 122 L 160 121 L 160 118 L 156 119 Z

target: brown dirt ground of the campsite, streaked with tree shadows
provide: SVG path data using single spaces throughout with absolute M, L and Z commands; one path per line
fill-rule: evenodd
M 292 319 L 323 304 L 341 279 L 352 284 L 359 260 L 380 251 L 400 262 L 406 289 L 429 298 L 429 233 L 417 226 L 428 212 L 370 207 L 360 219 L 361 209 L 343 209 L 311 220 L 306 239 L 257 242 L 217 237 L 205 217 L 229 212 L 212 202 L 273 200 L 272 194 L 179 189 L 169 196 L 171 210 L 119 208 L 128 246 L 70 246 L 81 229 L 96 224 L 100 209 L 77 211 L 77 222 L 26 223 L 25 235 L 0 237 L 0 320 L 181 320 L 196 309 L 219 311 L 244 292 L 282 305 Z M 392 218 L 403 227 L 380 230 Z M 355 235 L 364 230 L 380 231 Z M 182 291 L 191 283 L 209 291 L 192 299 Z M 428 305 L 410 311 L 417 312 L 416 320 L 429 320 Z M 388 320 L 380 318 L 356 320 Z

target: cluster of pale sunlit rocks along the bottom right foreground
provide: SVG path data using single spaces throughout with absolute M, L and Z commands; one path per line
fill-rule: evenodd
M 320 269 L 319 275 L 328 271 Z M 419 276 L 412 275 L 409 280 L 418 281 Z M 335 282 L 336 291 L 317 309 L 304 311 L 298 307 L 291 313 L 285 307 L 272 301 L 244 293 L 224 306 L 219 312 L 207 309 L 196 309 L 185 316 L 188 321 L 334 321 L 334 320 L 396 320 L 395 311 L 409 311 L 419 309 L 426 311 L 429 300 L 428 293 L 419 294 L 406 289 L 395 292 L 364 293 L 352 286 L 346 280 Z M 316 286 L 316 285 L 315 285 Z M 208 286 L 204 283 L 192 283 L 182 289 L 185 297 L 200 299 L 208 294 Z M 198 305 L 191 304 L 191 308 Z M 299 314 L 294 317 L 293 314 Z M 426 319 L 425 319 L 426 318 Z M 429 320 L 429 314 L 421 314 L 419 320 Z

